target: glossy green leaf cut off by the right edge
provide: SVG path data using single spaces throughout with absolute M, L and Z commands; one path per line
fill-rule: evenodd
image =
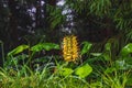
M 121 50 L 122 56 L 129 55 L 130 53 L 132 53 L 132 43 L 129 43 Z

